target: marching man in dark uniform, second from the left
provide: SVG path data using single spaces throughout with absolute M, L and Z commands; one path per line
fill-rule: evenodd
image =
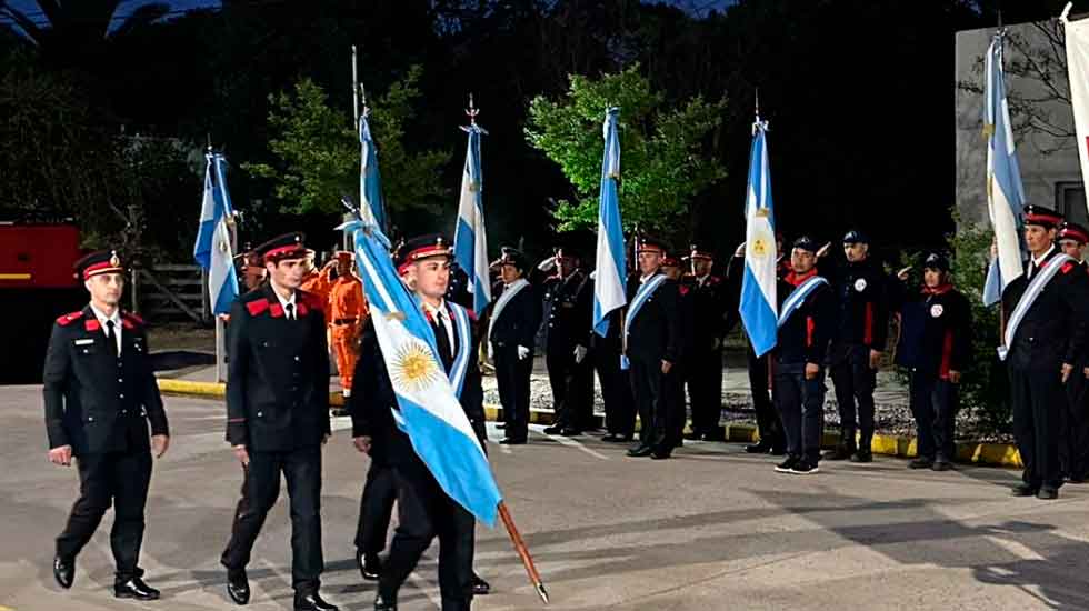
M 299 289 L 307 251 L 301 233 L 259 246 L 269 281 L 231 307 L 227 441 L 242 464 L 242 498 L 220 559 L 231 600 L 246 604 L 246 567 L 280 492 L 291 501 L 291 585 L 297 611 L 334 611 L 318 590 L 321 553 L 321 447 L 329 438 L 329 350 L 324 301 Z

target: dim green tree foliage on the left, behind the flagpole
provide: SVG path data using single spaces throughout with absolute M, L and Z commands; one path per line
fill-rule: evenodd
M 371 133 L 379 150 L 382 191 L 388 212 L 434 212 L 448 194 L 439 178 L 449 163 L 449 151 L 410 151 L 404 146 L 406 126 L 414 117 L 422 71 L 413 67 L 384 96 L 371 100 Z M 243 168 L 270 179 L 287 212 L 336 213 L 340 198 L 359 201 L 359 138 L 344 113 L 330 108 L 324 90 L 310 79 L 291 92 L 270 97 L 269 149 L 276 166 L 246 163 Z

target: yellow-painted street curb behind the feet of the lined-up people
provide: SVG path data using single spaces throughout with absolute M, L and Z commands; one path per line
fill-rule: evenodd
M 188 380 L 170 380 L 160 378 L 159 390 L 169 394 L 181 394 L 188 397 L 202 397 L 222 399 L 227 394 L 227 384 L 222 382 L 191 382 Z M 329 393 L 329 405 L 342 408 L 344 398 L 339 392 Z M 502 418 L 503 410 L 496 404 L 484 404 L 484 417 L 491 421 Z M 530 410 L 529 422 L 531 424 L 551 424 L 556 414 L 552 410 Z M 603 427 L 605 418 L 593 417 L 597 427 Z M 736 443 L 753 443 L 760 439 L 757 428 L 752 424 L 727 424 L 726 440 Z M 822 448 L 835 448 L 839 442 L 839 434 L 825 432 L 821 440 Z M 918 455 L 916 450 L 916 438 L 906 435 L 885 435 L 875 434 L 870 442 L 870 448 L 875 454 L 890 457 L 915 458 Z M 979 443 L 975 441 L 962 441 L 957 443 L 957 462 L 970 464 L 989 464 L 996 467 L 1023 468 L 1021 454 L 1012 443 Z

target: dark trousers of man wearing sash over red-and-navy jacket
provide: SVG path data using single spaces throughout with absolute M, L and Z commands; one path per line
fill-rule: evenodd
M 825 432 L 825 370 L 806 379 L 806 363 L 776 363 L 776 400 L 787 435 L 787 453 L 820 460 L 820 439 Z

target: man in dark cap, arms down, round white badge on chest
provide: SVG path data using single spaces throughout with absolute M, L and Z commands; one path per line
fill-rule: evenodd
M 870 258 L 869 248 L 861 231 L 843 236 L 847 268 L 838 279 L 839 322 L 829 354 L 840 439 L 835 450 L 826 452 L 829 460 L 873 460 L 873 390 L 888 337 L 889 309 L 885 271 Z M 858 445 L 856 431 L 860 433 Z

